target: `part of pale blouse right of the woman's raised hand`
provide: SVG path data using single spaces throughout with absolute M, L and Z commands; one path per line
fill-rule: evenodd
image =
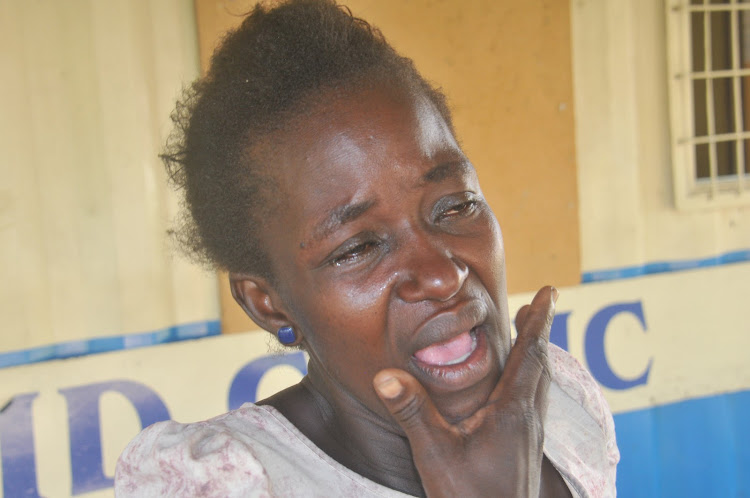
M 549 359 L 545 453 L 581 496 L 614 496 L 620 452 L 604 394 L 566 351 L 550 344 Z

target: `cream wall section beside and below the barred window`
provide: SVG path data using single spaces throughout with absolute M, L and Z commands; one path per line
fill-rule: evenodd
M 675 208 L 663 0 L 571 0 L 582 271 L 750 249 L 750 206 Z

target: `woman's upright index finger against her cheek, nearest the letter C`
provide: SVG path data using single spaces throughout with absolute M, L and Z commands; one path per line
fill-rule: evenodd
M 547 365 L 549 330 L 555 315 L 557 289 L 544 287 L 537 292 L 522 316 L 518 338 L 508 355 L 503 375 L 492 399 L 511 391 L 517 398 L 534 399 L 540 376 Z

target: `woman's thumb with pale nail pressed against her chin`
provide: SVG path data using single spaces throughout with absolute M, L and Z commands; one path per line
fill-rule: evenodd
M 409 438 L 415 455 L 435 447 L 450 425 L 440 415 L 422 385 L 403 370 L 381 370 L 373 379 L 375 392 Z

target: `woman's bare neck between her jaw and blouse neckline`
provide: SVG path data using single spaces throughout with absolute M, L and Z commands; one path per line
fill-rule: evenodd
M 302 382 L 262 403 L 278 409 L 326 454 L 357 474 L 423 496 L 409 441 L 395 423 L 328 385 L 312 364 L 309 367 Z

